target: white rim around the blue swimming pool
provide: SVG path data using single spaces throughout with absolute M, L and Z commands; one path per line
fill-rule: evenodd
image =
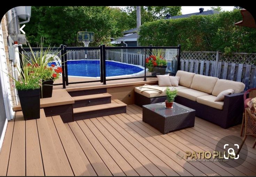
M 67 61 L 83 61 L 83 60 L 67 60 Z M 100 61 L 100 60 L 85 60 L 85 61 Z M 111 60 L 106 60 L 108 62 L 115 62 L 117 64 L 122 64 L 122 65 L 128 65 L 128 66 L 135 66 L 135 67 L 139 67 L 141 69 L 143 69 L 142 71 L 138 72 L 138 73 L 134 73 L 134 74 L 127 74 L 127 75 L 119 75 L 119 76 L 107 76 L 107 79 L 115 79 L 115 78 L 126 78 L 126 77 L 141 77 L 144 76 L 144 67 L 140 66 L 140 65 L 133 65 L 133 64 L 127 64 L 127 63 L 122 63 L 119 61 L 111 61 Z M 148 71 L 148 69 L 146 69 L 146 72 Z M 72 75 L 68 75 L 69 77 L 80 77 L 80 78 L 95 78 L 95 79 L 100 79 L 100 77 L 88 77 L 88 76 L 72 76 Z

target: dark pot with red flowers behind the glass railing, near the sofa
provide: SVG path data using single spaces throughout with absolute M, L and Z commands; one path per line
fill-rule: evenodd
M 146 58 L 146 67 L 152 75 L 164 75 L 167 62 L 164 59 L 164 52 L 161 49 L 153 49 L 152 55 Z

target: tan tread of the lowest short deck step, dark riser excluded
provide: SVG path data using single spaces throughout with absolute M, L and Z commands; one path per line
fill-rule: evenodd
M 88 111 L 97 111 L 102 109 L 118 108 L 123 106 L 127 106 L 127 104 L 119 100 L 111 100 L 111 103 L 108 103 L 108 104 L 74 108 L 73 113 L 75 114 L 75 113 L 88 112 Z

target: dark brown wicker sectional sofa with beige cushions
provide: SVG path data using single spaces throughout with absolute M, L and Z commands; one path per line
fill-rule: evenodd
M 241 123 L 243 114 L 242 92 L 245 89 L 245 84 L 181 70 L 177 71 L 176 76 L 180 77 L 179 86 L 170 87 L 170 89 L 178 90 L 175 102 L 195 109 L 197 117 L 223 128 Z M 224 101 L 214 101 L 220 92 L 227 89 L 234 89 L 234 94 L 225 95 Z M 140 87 L 135 87 L 134 92 L 135 104 L 138 106 L 166 100 L 165 92 L 140 92 Z

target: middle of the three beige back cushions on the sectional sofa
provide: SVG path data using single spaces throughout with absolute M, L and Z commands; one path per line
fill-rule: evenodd
M 196 74 L 193 77 L 191 89 L 195 89 L 195 90 L 199 90 L 199 91 L 211 94 L 217 80 L 218 80 L 217 77 Z

